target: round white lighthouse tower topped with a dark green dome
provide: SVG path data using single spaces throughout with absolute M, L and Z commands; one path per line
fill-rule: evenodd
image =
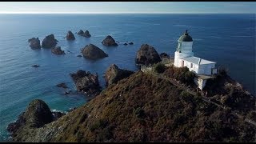
M 180 38 L 178 38 L 178 47 L 174 54 L 174 66 L 183 67 L 184 62 L 182 62 L 181 59 L 179 58 L 187 58 L 194 56 L 192 46 L 193 39 L 190 37 L 186 30 L 186 32 Z

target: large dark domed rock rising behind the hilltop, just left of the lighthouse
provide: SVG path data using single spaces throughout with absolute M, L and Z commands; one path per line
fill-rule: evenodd
M 140 65 L 151 65 L 161 61 L 161 58 L 153 46 L 143 44 L 137 52 L 135 62 Z

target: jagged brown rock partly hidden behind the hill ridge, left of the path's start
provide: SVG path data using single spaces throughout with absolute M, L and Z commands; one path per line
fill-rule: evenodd
M 121 79 L 129 77 L 131 74 L 134 74 L 134 71 L 122 70 L 119 69 L 115 64 L 112 64 L 106 70 L 106 86 L 109 86 L 112 83 L 117 83 Z

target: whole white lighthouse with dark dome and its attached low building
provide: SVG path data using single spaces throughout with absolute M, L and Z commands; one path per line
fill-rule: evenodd
M 193 53 L 193 39 L 186 32 L 178 38 L 178 47 L 174 54 L 174 66 L 186 66 L 190 71 L 198 74 L 195 83 L 202 90 L 206 85 L 207 79 L 211 78 L 210 75 L 216 74 L 216 62 L 211 62 L 206 59 L 194 57 Z

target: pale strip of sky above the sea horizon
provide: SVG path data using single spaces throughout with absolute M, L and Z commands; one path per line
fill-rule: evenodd
M 256 14 L 256 2 L 0 2 L 0 14 Z

